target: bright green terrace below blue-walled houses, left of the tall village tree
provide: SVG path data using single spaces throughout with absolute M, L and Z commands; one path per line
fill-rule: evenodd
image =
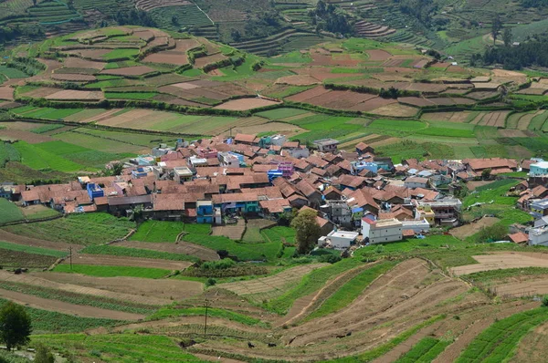
M 227 250 L 228 254 L 241 261 L 274 261 L 281 251 L 279 243 L 240 244 L 223 236 L 190 233 L 183 240 L 193 244 L 201 244 L 213 250 Z

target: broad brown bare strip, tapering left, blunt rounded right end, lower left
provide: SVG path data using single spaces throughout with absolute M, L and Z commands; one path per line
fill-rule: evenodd
M 115 293 L 144 296 L 145 299 L 152 297 L 170 300 L 171 302 L 183 300 L 204 291 L 202 283 L 176 279 L 151 280 L 138 277 L 95 277 L 52 272 L 32 273 L 30 275 L 61 284 L 94 287 Z

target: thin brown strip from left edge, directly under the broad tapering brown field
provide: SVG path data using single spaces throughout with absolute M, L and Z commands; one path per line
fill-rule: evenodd
M 137 303 L 137 304 L 162 306 L 162 305 L 173 303 L 172 300 L 163 299 L 163 298 L 154 297 L 154 296 L 138 296 L 138 295 L 132 295 L 132 294 L 121 294 L 121 293 L 115 293 L 112 291 L 101 290 L 93 287 L 86 287 L 86 286 L 72 285 L 72 284 L 61 284 L 61 283 L 57 283 L 55 281 L 49 281 L 45 278 L 40 278 L 34 275 L 15 275 L 5 271 L 0 271 L 0 281 L 8 281 L 8 282 L 18 283 L 18 284 L 53 288 L 56 290 L 66 291 L 69 293 L 106 297 L 106 298 L 111 298 L 111 299 L 116 299 L 121 301 Z

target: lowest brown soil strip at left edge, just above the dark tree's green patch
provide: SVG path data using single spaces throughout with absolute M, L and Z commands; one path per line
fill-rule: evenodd
M 47 311 L 55 311 L 73 316 L 100 317 L 115 320 L 139 320 L 144 318 L 144 315 L 141 314 L 124 313 L 121 311 L 101 309 L 93 306 L 69 304 L 58 300 L 49 300 L 42 297 L 30 296 L 4 289 L 0 289 L 0 297 L 24 306 L 35 307 L 37 309 Z

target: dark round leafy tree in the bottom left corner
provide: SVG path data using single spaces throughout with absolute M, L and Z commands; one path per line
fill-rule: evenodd
M 7 302 L 0 309 L 0 341 L 3 341 L 7 350 L 27 344 L 32 327 L 30 316 L 23 306 Z

